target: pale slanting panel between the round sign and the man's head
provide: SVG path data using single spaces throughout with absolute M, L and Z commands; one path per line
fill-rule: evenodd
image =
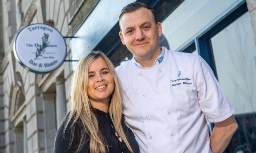
M 119 20 L 121 9 L 135 0 L 100 0 L 71 39 L 72 60 L 92 51 Z M 112 9 L 109 9 L 112 8 Z M 111 14 L 107 15 L 106 14 Z M 97 20 L 95 20 L 97 19 Z M 102 26 L 104 23 L 104 26 Z M 118 33 L 116 34 L 118 35 Z M 104 48 L 102 49 L 104 50 Z M 73 70 L 76 62 L 72 62 Z

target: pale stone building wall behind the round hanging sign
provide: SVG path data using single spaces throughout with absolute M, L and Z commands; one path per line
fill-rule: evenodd
M 72 63 L 49 74 L 34 74 L 14 57 L 18 32 L 33 23 L 73 35 L 98 0 L 82 0 L 71 20 L 70 0 L 0 1 L 0 153 L 52 153 L 54 137 L 66 115 Z M 82 2 L 81 1 L 81 2 Z M 71 59 L 70 39 L 66 39 Z

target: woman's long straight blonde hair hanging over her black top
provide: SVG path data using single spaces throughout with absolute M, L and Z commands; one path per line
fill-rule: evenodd
M 92 51 L 84 56 L 81 60 L 79 60 L 76 70 L 73 73 L 73 77 L 71 80 L 71 91 L 70 91 L 70 101 L 71 101 L 71 112 L 69 118 L 65 124 L 63 134 L 67 128 L 71 128 L 71 141 L 69 144 L 69 148 L 71 147 L 72 141 L 74 139 L 74 124 L 76 122 L 81 121 L 83 124 L 83 128 L 81 130 L 81 137 L 79 141 L 78 148 L 76 152 L 81 151 L 83 148 L 83 144 L 85 143 L 85 136 L 88 134 L 90 136 L 90 153 L 106 153 L 108 152 L 105 147 L 107 146 L 105 142 L 105 138 L 102 135 L 102 132 L 99 128 L 99 123 L 97 121 L 97 117 L 92 111 L 92 107 L 90 105 L 90 100 L 87 95 L 87 87 L 88 87 L 88 70 L 91 63 L 97 59 L 103 58 L 109 70 L 114 78 L 114 91 L 111 94 L 111 102 L 109 105 L 109 115 L 113 121 L 114 128 L 116 132 L 121 137 L 122 141 L 125 142 L 126 146 L 133 153 L 132 148 L 126 138 L 126 135 L 123 132 L 122 128 L 122 107 L 121 107 L 121 92 L 119 81 L 116 76 L 116 72 L 114 70 L 114 66 L 101 51 Z M 73 122 L 71 127 L 68 127 L 70 122 Z M 87 136 L 87 137 L 88 137 Z

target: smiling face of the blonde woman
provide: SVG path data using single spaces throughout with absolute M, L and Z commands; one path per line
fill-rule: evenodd
M 87 94 L 90 103 L 109 104 L 110 95 L 114 90 L 114 79 L 103 58 L 95 59 L 88 70 Z

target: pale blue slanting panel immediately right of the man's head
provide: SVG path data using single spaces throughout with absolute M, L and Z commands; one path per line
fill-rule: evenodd
M 185 0 L 162 22 L 169 49 L 177 50 L 235 2 L 237 0 Z

